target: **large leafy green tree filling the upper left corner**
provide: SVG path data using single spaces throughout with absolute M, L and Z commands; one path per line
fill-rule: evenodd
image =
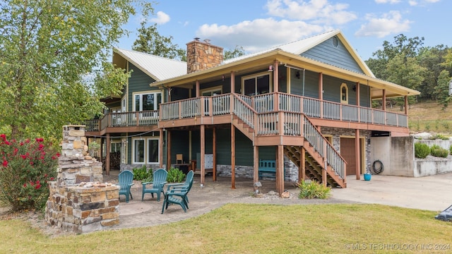
M 100 97 L 129 76 L 109 52 L 137 8 L 153 12 L 138 0 L 0 2 L 0 126 L 11 138 L 57 136 L 102 112 Z

